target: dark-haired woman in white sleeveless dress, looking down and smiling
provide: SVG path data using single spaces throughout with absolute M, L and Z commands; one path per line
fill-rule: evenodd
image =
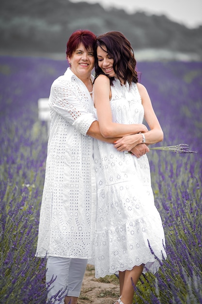
M 114 146 L 94 140 L 95 276 L 119 274 L 116 304 L 132 304 L 132 282 L 136 285 L 142 272 L 155 273 L 166 252 L 147 156 L 130 152 L 138 145 L 162 141 L 163 131 L 146 88 L 138 83 L 136 60 L 125 36 L 120 32 L 99 35 L 94 53 L 93 101 L 101 134 L 123 136 Z M 140 128 L 143 118 L 148 132 Z

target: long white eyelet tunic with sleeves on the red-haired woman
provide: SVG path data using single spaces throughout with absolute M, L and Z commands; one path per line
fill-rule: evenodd
M 52 120 L 36 255 L 90 258 L 96 182 L 93 139 L 86 133 L 96 120 L 92 99 L 68 68 L 53 82 L 49 105 Z

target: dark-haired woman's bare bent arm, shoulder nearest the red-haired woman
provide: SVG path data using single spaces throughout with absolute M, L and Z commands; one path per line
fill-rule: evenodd
M 147 127 L 143 124 L 120 124 L 112 121 L 110 108 L 110 83 L 105 75 L 99 75 L 93 88 L 94 104 L 97 110 L 100 132 L 103 137 L 122 137 L 124 135 L 136 134 L 136 144 L 142 142 L 140 132 L 147 132 Z

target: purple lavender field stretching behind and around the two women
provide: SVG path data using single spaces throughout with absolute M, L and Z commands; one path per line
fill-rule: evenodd
M 34 256 L 47 153 L 37 101 L 66 67 L 65 58 L 0 56 L 0 304 L 46 303 L 46 260 Z M 197 153 L 148 153 L 168 259 L 140 277 L 134 304 L 202 303 L 202 63 L 140 62 L 138 71 L 160 145 Z

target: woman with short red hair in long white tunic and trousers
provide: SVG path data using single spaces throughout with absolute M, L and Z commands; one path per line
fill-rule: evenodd
M 87 30 L 69 37 L 66 56 L 70 67 L 50 89 L 52 119 L 36 251 L 36 256 L 47 257 L 47 303 L 62 304 L 65 298 L 65 303 L 77 304 L 93 252 L 93 137 L 106 140 L 93 115 L 95 39 Z

